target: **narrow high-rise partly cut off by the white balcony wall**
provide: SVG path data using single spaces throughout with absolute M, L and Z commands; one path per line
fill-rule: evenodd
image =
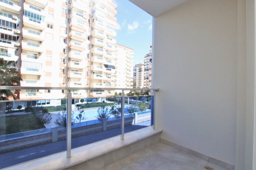
M 151 88 L 152 80 L 152 46 L 149 53 L 144 57 L 144 88 Z

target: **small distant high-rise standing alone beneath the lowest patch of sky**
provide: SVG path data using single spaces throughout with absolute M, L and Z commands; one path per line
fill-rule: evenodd
M 133 88 L 144 88 L 144 64 L 133 67 Z

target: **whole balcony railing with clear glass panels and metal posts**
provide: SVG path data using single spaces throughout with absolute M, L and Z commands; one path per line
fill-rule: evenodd
M 22 94 L 22 91 L 31 91 L 34 92 L 36 91 L 39 96 L 41 95 L 41 93 L 45 92 L 45 94 L 47 95 L 42 95 L 41 98 L 39 99 L 38 96 L 27 96 L 27 98 L 25 97 L 26 100 L 7 100 L 7 101 L 0 101 L 0 118 L 2 118 L 2 120 L 0 120 L 0 123 L 2 125 L 5 125 L 5 127 L 7 127 L 6 129 L 12 129 L 15 128 L 16 124 L 12 122 L 12 126 L 8 126 L 7 125 L 7 119 L 8 117 L 12 117 L 10 114 L 8 114 L 8 109 L 6 107 L 6 102 L 13 102 L 15 104 L 17 103 L 25 103 L 25 102 L 31 102 L 34 103 L 35 105 L 33 105 L 33 107 L 35 106 L 47 106 L 47 104 L 49 105 L 51 102 L 50 100 L 52 100 L 54 103 L 55 100 L 59 100 L 59 104 L 60 105 L 54 105 L 54 109 L 56 109 L 56 107 L 61 107 L 61 108 L 66 108 L 66 126 L 50 126 L 46 129 L 34 129 L 34 130 L 24 130 L 24 131 L 19 131 L 19 132 L 15 132 L 15 133 L 2 133 L 3 132 L 3 127 L 0 127 L 0 132 L 2 130 L 2 132 L 0 133 L 0 157 L 3 159 L 0 159 L 0 168 L 5 168 L 8 166 L 12 166 L 12 165 L 16 165 L 18 163 L 22 163 L 22 162 L 15 162 L 16 159 L 14 158 L 10 158 L 10 160 L 12 160 L 11 162 L 8 162 L 8 155 L 12 155 L 11 153 L 13 152 L 13 154 L 15 154 L 15 156 L 17 156 L 17 158 L 23 157 L 23 153 L 24 153 L 24 149 L 29 149 L 28 145 L 31 145 L 31 148 L 33 148 L 34 146 L 38 146 L 38 147 L 42 147 L 41 150 L 44 150 L 47 153 L 41 152 L 41 151 L 35 151 L 35 148 L 33 148 L 33 153 L 35 153 L 31 158 L 28 159 L 23 159 L 23 162 L 29 161 L 29 160 L 33 160 L 33 159 L 37 159 L 37 158 L 41 158 L 47 155 L 51 155 L 57 152 L 63 152 L 66 151 L 67 153 L 67 158 L 71 157 L 71 149 L 75 148 L 75 147 L 79 147 L 85 144 L 89 144 L 89 143 L 83 143 L 80 145 L 77 145 L 77 143 L 81 143 L 81 141 L 83 140 L 87 140 L 88 138 L 97 138 L 97 140 L 102 140 L 104 138 L 101 138 L 100 135 L 102 135 L 105 131 L 105 136 L 108 137 L 113 137 L 116 135 L 120 134 L 120 139 L 124 140 L 124 131 L 129 132 L 130 127 L 133 126 L 133 130 L 136 129 L 140 129 L 146 126 L 152 126 L 153 129 L 155 129 L 155 121 L 154 121 L 154 95 L 155 92 L 159 91 L 159 89 L 141 89 L 141 88 L 82 88 L 82 87 L 28 87 L 28 86 L 0 86 L 0 90 L 12 90 L 12 92 L 16 91 L 20 91 L 20 94 Z M 44 91 L 45 90 L 45 91 Z M 61 94 L 63 94 L 63 96 L 65 96 L 65 98 L 58 98 L 56 99 L 56 96 L 54 96 L 54 92 L 56 91 L 62 91 Z M 64 91 L 67 91 L 67 93 L 63 93 Z M 121 96 L 108 96 L 108 97 L 101 97 L 102 99 L 100 100 L 101 102 L 97 103 L 97 98 L 99 99 L 100 97 L 81 97 L 81 98 L 72 98 L 72 94 L 74 92 L 78 92 L 78 91 L 85 91 L 85 93 L 90 93 L 90 91 L 118 91 L 121 92 Z M 141 96 L 125 96 L 124 92 L 135 92 L 135 91 L 150 91 L 151 95 L 144 95 L 141 93 Z M 52 93 L 52 94 L 51 94 Z M 113 95 L 114 93 L 112 93 Z M 52 95 L 52 96 L 51 96 Z M 77 97 L 77 96 L 76 96 Z M 83 99 L 83 100 L 81 100 Z M 65 102 L 63 105 L 62 100 Z M 78 101 L 78 103 L 74 102 Z M 106 100 L 106 102 L 104 101 Z M 80 101 L 80 102 L 79 102 Z M 102 102 L 103 101 L 103 102 Z M 58 103 L 57 102 L 57 103 Z M 86 121 L 79 121 L 79 116 L 76 117 L 78 118 L 76 121 L 74 121 L 73 118 L 73 114 L 74 114 L 74 107 L 78 104 L 79 106 L 85 106 L 85 104 L 83 104 L 83 102 L 87 103 L 86 106 L 88 105 L 96 105 L 100 103 L 102 104 L 110 104 L 108 106 L 108 109 L 110 110 L 111 107 L 110 106 L 116 106 L 116 108 L 118 106 L 119 108 L 119 113 L 121 112 L 120 115 L 113 115 L 110 116 L 106 119 L 96 119 L 95 120 L 95 115 L 93 115 L 94 120 L 93 119 L 87 119 Z M 91 102 L 91 103 L 90 103 Z M 81 104 L 80 104 L 81 103 Z M 126 104 L 125 104 L 126 103 Z M 77 105 L 77 106 L 78 106 Z M 138 106 L 143 106 L 145 108 L 140 108 Z M 64 107 L 63 107 L 64 106 Z M 96 113 L 96 109 L 98 108 L 98 110 L 100 109 L 99 106 L 95 106 L 94 108 L 94 113 Z M 104 105 L 105 106 L 105 105 Z M 107 105 L 106 105 L 107 106 Z M 133 107 L 135 107 L 135 111 L 132 112 L 132 114 L 129 114 L 129 110 L 134 109 Z M 17 106 L 15 106 L 17 107 Z M 25 107 L 25 105 L 24 105 Z M 97 107 L 97 108 L 96 108 Z M 47 107 L 45 107 L 47 108 Z M 49 107 L 48 107 L 49 108 Z M 82 108 L 82 107 L 81 107 Z M 83 108 L 88 108 L 88 107 L 83 107 Z M 115 107 L 114 107 L 115 108 Z M 90 108 L 91 110 L 93 108 Z M 85 110 L 85 115 L 87 115 L 87 113 L 90 112 Z M 13 109 L 13 112 L 17 112 L 18 113 L 19 110 L 18 109 Z M 57 110 L 56 110 L 57 111 Z M 54 116 L 60 116 L 60 112 L 58 113 L 58 111 L 55 113 L 51 113 Z M 77 110 L 76 110 L 77 111 Z M 79 110 L 78 110 L 79 111 Z M 15 113 L 16 113 L 15 112 Z M 31 111 L 32 113 L 32 111 Z M 63 112 L 62 112 L 63 113 Z M 99 113 L 99 112 L 98 112 Z M 29 113 L 25 112 L 23 113 L 24 115 L 29 115 Z M 77 113 L 75 113 L 77 114 Z M 30 114 L 32 115 L 32 114 Z M 3 121 L 4 118 L 4 121 Z M 55 118 L 55 117 L 54 117 Z M 5 122 L 6 120 L 6 122 Z M 57 120 L 57 119 L 56 119 Z M 12 120 L 13 121 L 13 120 Z M 28 120 L 27 120 L 28 121 Z M 148 124 L 143 124 L 147 122 Z M 18 125 L 17 125 L 18 126 Z M 46 126 L 45 126 L 46 127 Z M 2 128 L 2 129 L 1 129 Z M 98 128 L 98 130 L 97 130 Z M 125 130 L 126 128 L 126 130 Z M 99 130 L 100 129 L 100 130 Z M 118 131 L 117 133 L 113 133 L 113 131 L 111 130 L 116 130 Z M 6 130 L 5 130 L 6 131 Z M 93 131 L 93 132 L 92 132 Z M 130 130 L 132 131 L 132 130 Z M 100 133 L 100 134 L 99 134 Z M 106 135 L 106 133 L 108 133 Z M 113 134 L 112 134 L 113 133 Z M 86 136 L 86 135 L 91 135 Z M 84 137 L 84 135 L 86 137 Z M 94 135 L 94 136 L 93 136 Z M 112 135 L 112 136 L 111 136 Z M 84 137 L 83 139 L 79 138 L 79 137 Z M 72 138 L 72 140 L 71 140 Z M 79 138 L 76 140 L 76 138 Z M 107 137 L 106 137 L 107 138 Z M 26 140 L 25 140 L 26 139 Z M 16 141 L 17 140 L 17 141 Z M 63 142 L 66 140 L 65 146 L 63 146 Z M 91 139 L 90 139 L 91 140 Z M 72 145 L 71 145 L 71 141 Z M 60 144 L 57 144 L 57 142 L 60 142 Z M 95 142 L 95 141 L 91 141 Z M 46 146 L 44 144 L 54 144 L 54 146 Z M 61 145 L 62 144 L 62 145 Z M 24 147 L 23 147 L 24 145 Z M 30 146 L 29 146 L 30 147 Z M 45 147 L 45 148 L 44 148 Z M 54 149 L 51 149 L 52 151 L 48 153 L 47 147 L 51 147 Z M 61 147 L 61 149 L 57 149 L 58 147 Z M 22 148 L 22 149 L 21 149 Z M 49 150 L 49 149 L 48 149 Z M 56 150 L 53 152 L 53 150 Z M 20 152 L 19 152 L 20 151 Z M 15 153 L 14 153 L 15 152 Z M 29 152 L 29 151 L 27 151 Z M 40 152 L 40 155 L 37 157 L 36 156 L 36 152 Z M 39 154 L 39 153 L 38 153 Z M 19 156 L 20 155 L 20 156 Z M 29 155 L 29 154 L 28 154 Z M 13 157 L 13 156 L 11 156 Z M 26 156 L 27 157 L 27 156 Z M 28 156 L 29 157 L 29 156 Z

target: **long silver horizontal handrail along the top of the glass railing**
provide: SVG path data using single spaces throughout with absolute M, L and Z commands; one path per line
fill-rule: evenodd
M 137 90 L 137 91 L 159 91 L 158 88 L 91 88 L 91 87 L 33 87 L 33 86 L 0 86 L 0 90 L 26 90 L 26 89 L 42 89 L 42 90 Z

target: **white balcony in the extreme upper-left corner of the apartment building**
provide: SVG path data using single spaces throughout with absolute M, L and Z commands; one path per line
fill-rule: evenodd
M 1 0 L 0 1 L 0 9 L 1 11 L 9 11 L 11 13 L 20 14 L 21 7 L 19 4 L 15 3 L 14 1 L 8 1 L 8 0 Z

